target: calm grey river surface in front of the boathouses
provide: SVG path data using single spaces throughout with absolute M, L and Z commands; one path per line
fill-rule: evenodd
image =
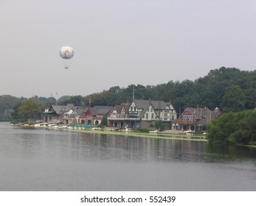
M 256 191 L 256 149 L 0 123 L 0 191 Z

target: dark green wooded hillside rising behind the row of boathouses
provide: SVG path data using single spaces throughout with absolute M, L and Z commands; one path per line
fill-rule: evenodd
M 222 113 L 252 110 L 256 100 L 256 70 L 241 71 L 238 68 L 221 67 L 210 70 L 207 76 L 194 81 L 170 80 L 159 85 L 128 85 L 126 88 L 113 86 L 87 96 L 62 96 L 58 99 L 58 104 L 114 106 L 122 102 L 132 102 L 133 96 L 135 99 L 171 102 L 177 113 L 181 113 L 186 107 L 197 106 L 208 107 L 210 110 L 220 107 Z M 30 99 L 38 102 L 41 110 L 56 104 L 54 97 L 34 96 Z M 9 111 L 18 116 L 17 109 L 26 100 L 23 97 L 0 96 L 0 119 L 11 118 Z

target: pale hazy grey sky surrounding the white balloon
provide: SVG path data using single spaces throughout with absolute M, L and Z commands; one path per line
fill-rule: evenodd
M 1 0 L 0 95 L 58 98 L 256 69 L 256 1 Z M 60 58 L 72 46 L 72 60 Z M 69 69 L 65 69 L 65 65 Z

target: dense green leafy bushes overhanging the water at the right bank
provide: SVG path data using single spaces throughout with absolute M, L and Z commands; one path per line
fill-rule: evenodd
M 207 126 L 207 140 L 213 143 L 256 145 L 256 111 L 224 113 Z

